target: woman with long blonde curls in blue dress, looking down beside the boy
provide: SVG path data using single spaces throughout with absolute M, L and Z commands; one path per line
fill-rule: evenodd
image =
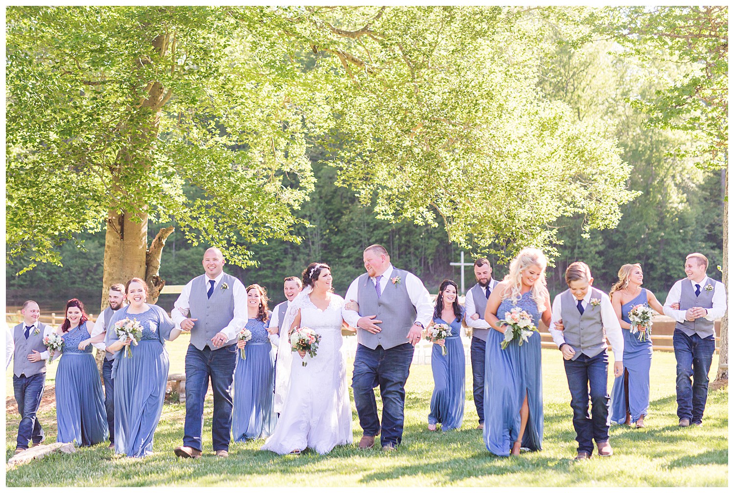
M 509 274 L 487 300 L 484 319 L 494 329 L 487 335 L 484 373 L 484 445 L 496 456 L 520 455 L 520 448 L 541 450 L 543 437 L 540 334 L 523 346 L 513 340 L 501 348 L 505 312 L 520 307 L 533 322 L 551 323 L 551 299 L 545 288 L 548 260 L 539 249 L 526 248 L 509 265 Z

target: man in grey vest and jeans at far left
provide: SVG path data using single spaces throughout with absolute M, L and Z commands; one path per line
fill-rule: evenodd
M 26 450 L 31 441 L 34 447 L 40 445 L 46 437 L 36 414 L 46 387 L 48 351 L 43 345 L 43 337 L 54 332 L 50 325 L 42 324 L 38 320 L 40 308 L 36 302 L 28 300 L 23 303 L 21 313 L 23 322 L 12 329 L 15 343 L 12 388 L 15 402 L 18 403 L 18 414 L 21 415 L 15 453 Z

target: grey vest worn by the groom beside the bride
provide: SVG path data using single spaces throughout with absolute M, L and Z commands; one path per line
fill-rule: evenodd
M 374 282 L 367 273 L 357 278 L 357 303 L 360 305 L 360 316 L 377 315 L 375 320 L 381 320 L 380 332 L 372 334 L 364 329 L 357 329 L 357 343 L 370 349 L 382 346 L 383 349 L 394 348 L 407 343 L 410 326 L 415 322 L 415 306 L 410 301 L 408 290 L 405 287 L 407 271 L 393 267 L 393 277 L 399 276 L 401 281 L 390 282 L 385 285 L 382 296 L 377 298 Z

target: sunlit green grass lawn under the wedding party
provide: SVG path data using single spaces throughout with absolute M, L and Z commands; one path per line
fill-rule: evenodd
M 188 340 L 168 345 L 171 371 L 183 372 Z M 351 373 L 351 361 L 347 363 Z M 471 370 L 466 367 L 464 425 L 460 430 L 429 433 L 426 417 L 433 389 L 430 365 L 413 365 L 407 381 L 405 431 L 401 447 L 391 453 L 362 451 L 362 435 L 352 403 L 354 445 L 335 448 L 327 456 L 310 450 L 301 456 L 277 456 L 259 450 L 263 440 L 230 445 L 229 459 L 211 450 L 211 393 L 205 408 L 202 459 L 178 459 L 184 405 L 166 403 L 156 432 L 153 456 L 123 459 L 106 443 L 73 454 L 54 454 L 8 469 L 6 486 L 727 486 L 728 390 L 711 390 L 702 428 L 678 428 L 675 416 L 675 357 L 655 352 L 650 375 L 650 417 L 646 428 L 614 426 L 614 456 L 574 463 L 575 433 L 570 394 L 559 351 L 544 349 L 543 450 L 519 458 L 499 458 L 484 448 L 476 427 Z M 716 373 L 718 357 L 711 366 Z M 53 378 L 57 364 L 48 373 Z M 12 370 L 12 366 L 11 366 Z M 12 373 L 6 395 L 12 395 Z M 348 376 L 351 381 L 351 376 Z M 611 378 L 609 388 L 611 390 Z M 350 389 L 351 391 L 351 389 Z M 378 401 L 379 406 L 379 401 Z M 7 414 L 6 459 L 15 450 L 19 416 Z M 40 415 L 46 442 L 56 435 L 53 410 Z

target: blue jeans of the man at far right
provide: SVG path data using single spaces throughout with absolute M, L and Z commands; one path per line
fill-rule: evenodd
M 698 334 L 686 335 L 680 329 L 673 331 L 675 350 L 675 398 L 678 419 L 701 423 L 708 396 L 708 370 L 711 368 L 716 341 Z M 693 385 L 691 386 L 691 376 Z

